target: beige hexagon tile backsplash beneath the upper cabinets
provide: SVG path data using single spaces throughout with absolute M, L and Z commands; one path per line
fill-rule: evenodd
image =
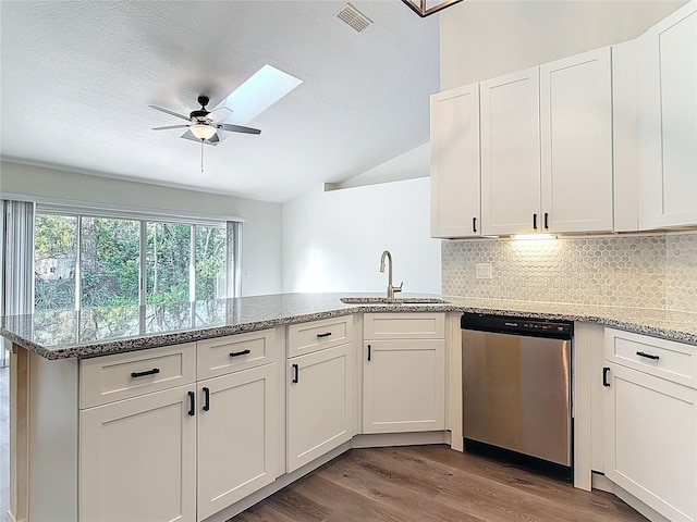
M 442 241 L 443 296 L 697 313 L 697 233 Z M 491 278 L 477 278 L 491 263 Z

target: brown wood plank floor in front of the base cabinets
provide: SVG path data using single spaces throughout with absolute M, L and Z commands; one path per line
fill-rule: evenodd
M 634 522 L 613 495 L 583 492 L 448 446 L 352 449 L 234 522 Z

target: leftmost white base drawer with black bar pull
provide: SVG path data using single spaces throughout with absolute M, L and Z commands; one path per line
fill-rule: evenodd
M 80 361 L 80 407 L 172 388 L 196 381 L 196 343 Z

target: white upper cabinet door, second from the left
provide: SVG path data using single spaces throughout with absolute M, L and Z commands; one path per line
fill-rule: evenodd
M 537 232 L 541 223 L 539 69 L 482 82 L 480 96 L 481 233 Z

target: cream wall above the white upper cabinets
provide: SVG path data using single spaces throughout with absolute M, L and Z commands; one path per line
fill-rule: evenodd
M 685 0 L 467 0 L 440 16 L 440 89 L 636 38 Z

